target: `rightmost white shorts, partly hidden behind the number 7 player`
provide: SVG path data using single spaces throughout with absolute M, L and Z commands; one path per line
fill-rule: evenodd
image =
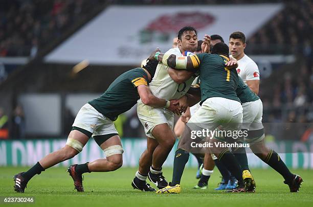
M 263 103 L 261 99 L 243 103 L 242 108 L 243 108 L 242 128 L 248 130 L 263 129 L 262 125 Z

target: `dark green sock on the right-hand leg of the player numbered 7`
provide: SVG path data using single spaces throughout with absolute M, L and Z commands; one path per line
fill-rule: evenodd
M 218 159 L 223 165 L 226 166 L 231 174 L 236 177 L 236 179 L 238 180 L 238 186 L 242 187 L 242 185 L 244 185 L 242 179 L 242 170 L 233 153 L 231 153 L 229 149 L 225 149 L 221 153 L 219 153 Z

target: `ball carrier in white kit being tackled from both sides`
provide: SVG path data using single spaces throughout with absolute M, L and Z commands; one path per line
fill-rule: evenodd
M 182 56 L 186 51 L 194 52 L 197 49 L 197 31 L 193 27 L 184 27 L 178 32 L 178 48 L 173 48 L 165 54 Z M 162 99 L 180 99 L 179 105 L 181 111 L 186 111 L 187 97 L 185 94 L 191 86 L 195 76 L 188 80 L 177 83 L 168 74 L 170 68 L 163 63 L 159 63 L 155 76 L 149 88 L 152 93 Z M 190 73 L 186 70 L 183 73 Z M 161 108 L 154 108 L 138 101 L 137 114 L 147 136 L 147 149 L 142 153 L 139 159 L 139 169 L 133 178 L 131 185 L 134 189 L 146 191 L 143 187 L 146 185 L 147 177 L 159 189 L 168 185 L 162 173 L 162 165 L 165 162 L 169 152 L 175 144 L 175 135 L 173 133 L 174 113 Z M 178 113 L 181 114 L 181 113 Z M 150 189 L 147 189 L 150 191 Z

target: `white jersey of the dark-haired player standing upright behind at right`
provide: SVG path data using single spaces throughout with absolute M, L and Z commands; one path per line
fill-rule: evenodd
M 244 55 L 240 60 L 237 60 L 237 62 L 237 73 L 244 83 L 246 83 L 247 80 L 260 80 L 258 65 L 248 55 Z

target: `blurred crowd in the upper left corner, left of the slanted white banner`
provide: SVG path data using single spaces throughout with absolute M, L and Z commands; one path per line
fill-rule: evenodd
M 35 56 L 104 0 L 2 0 L 0 57 Z

